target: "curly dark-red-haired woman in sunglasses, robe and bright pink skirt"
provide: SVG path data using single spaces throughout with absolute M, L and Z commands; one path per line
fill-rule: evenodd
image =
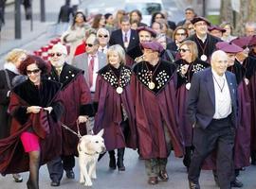
M 42 78 L 48 66 L 35 56 L 28 55 L 19 71 L 27 80 L 14 87 L 10 94 L 10 136 L 0 141 L 0 172 L 29 170 L 27 188 L 38 189 L 40 165 L 62 150 L 58 121 L 63 112 L 61 84 Z

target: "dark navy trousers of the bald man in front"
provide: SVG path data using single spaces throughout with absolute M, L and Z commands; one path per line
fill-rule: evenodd
M 229 189 L 233 180 L 233 146 L 235 130 L 228 118 L 212 120 L 207 129 L 194 128 L 192 162 L 189 168 L 189 180 L 198 183 L 204 160 L 212 150 L 216 150 L 217 176 L 221 189 Z

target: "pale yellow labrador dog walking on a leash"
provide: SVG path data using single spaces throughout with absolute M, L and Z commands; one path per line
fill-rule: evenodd
M 80 183 L 85 186 L 92 186 L 92 180 L 96 179 L 96 163 L 99 155 L 105 152 L 104 139 L 102 138 L 104 130 L 96 135 L 84 135 L 78 144 Z

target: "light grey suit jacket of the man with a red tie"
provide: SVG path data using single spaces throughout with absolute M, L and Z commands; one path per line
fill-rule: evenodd
M 99 59 L 99 70 L 104 67 L 107 63 L 106 55 L 102 52 L 98 51 L 98 59 Z M 84 71 L 84 77 L 86 80 L 86 83 L 89 83 L 89 73 L 88 73 L 88 54 L 82 53 L 78 56 L 76 56 L 73 60 L 74 66 L 77 68 L 80 68 Z M 97 71 L 99 71 L 97 70 Z

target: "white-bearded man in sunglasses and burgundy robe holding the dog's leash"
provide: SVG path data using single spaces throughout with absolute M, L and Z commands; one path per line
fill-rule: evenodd
M 66 48 L 62 44 L 55 44 L 50 54 L 51 72 L 46 76 L 50 80 L 56 80 L 63 84 L 64 116 L 62 122 L 69 129 L 78 132 L 77 124 L 80 124 L 80 132 L 86 134 L 86 126 L 82 123 L 93 115 L 91 94 L 83 77 L 83 71 L 67 64 L 64 59 L 67 55 Z M 74 156 L 78 155 L 78 136 L 67 129 L 63 129 L 63 155 L 47 163 L 50 174 L 51 186 L 59 186 L 65 170 L 68 179 L 74 179 Z

